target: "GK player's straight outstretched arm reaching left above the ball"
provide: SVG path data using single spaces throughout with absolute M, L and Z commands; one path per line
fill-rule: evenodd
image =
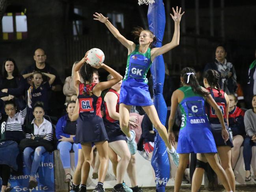
M 116 39 L 118 39 L 118 41 L 120 41 L 120 43 L 122 43 L 122 45 L 125 46 L 129 51 L 135 49 L 135 43 L 133 43 L 133 41 L 127 40 L 123 35 L 121 35 L 118 29 L 115 28 L 114 25 L 112 25 L 112 23 L 108 20 L 108 17 L 105 17 L 101 13 L 97 12 L 93 14 L 93 16 L 95 17 L 93 18 L 94 20 L 104 23 L 110 32 L 114 35 L 114 37 L 116 37 Z

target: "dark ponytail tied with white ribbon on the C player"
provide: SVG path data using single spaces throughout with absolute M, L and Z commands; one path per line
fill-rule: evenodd
M 190 85 L 194 93 L 197 93 L 202 96 L 207 96 L 209 93 L 205 92 L 201 89 L 201 86 L 198 83 L 198 80 L 196 79 L 196 72 L 194 69 L 190 67 L 185 67 L 181 70 L 181 77 L 183 78 L 183 83 Z M 189 78 L 189 81 L 188 81 Z

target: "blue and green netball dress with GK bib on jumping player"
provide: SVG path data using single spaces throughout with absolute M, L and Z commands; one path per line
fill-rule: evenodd
M 135 106 L 153 105 L 148 91 L 148 70 L 152 64 L 150 48 L 140 53 L 139 45 L 128 55 L 125 76 L 120 90 L 120 103 Z

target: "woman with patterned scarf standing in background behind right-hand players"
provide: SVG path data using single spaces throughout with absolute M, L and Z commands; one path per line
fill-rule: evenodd
M 237 85 L 235 67 L 232 63 L 227 62 L 226 56 L 227 52 L 224 46 L 217 46 L 214 62 L 207 63 L 204 71 L 207 71 L 208 69 L 218 71 L 220 74 L 220 88 L 229 94 L 235 92 Z

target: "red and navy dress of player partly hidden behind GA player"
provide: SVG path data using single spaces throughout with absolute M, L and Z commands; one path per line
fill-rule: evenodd
M 108 92 L 115 93 L 118 97 L 117 103 L 116 103 L 116 112 L 119 113 L 119 97 L 120 93 L 118 93 L 115 89 L 110 88 Z M 120 128 L 120 124 L 118 120 L 112 119 L 109 116 L 107 103 L 105 102 L 105 118 L 104 118 L 104 124 L 105 128 L 107 130 L 108 134 L 108 143 L 118 141 L 118 140 L 127 140 L 125 134 L 122 132 Z

